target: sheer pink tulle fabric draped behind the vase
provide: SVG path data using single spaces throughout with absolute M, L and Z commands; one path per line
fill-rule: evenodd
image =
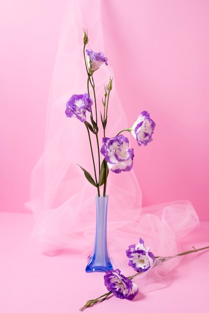
M 72 94 L 87 91 L 82 27 L 87 28 L 89 35 L 87 48 L 105 54 L 101 2 L 70 0 L 62 25 L 47 107 L 45 149 L 32 170 L 30 200 L 25 203 L 36 220 L 31 237 L 47 254 L 69 250 L 85 257 L 93 247 L 96 188 L 87 182 L 77 165 L 92 172 L 88 136 L 84 124 L 76 118 L 67 118 L 64 111 Z M 113 70 L 110 65 L 102 65 L 93 75 L 100 100 Z M 115 136 L 130 126 L 113 83 L 106 136 Z M 155 255 L 173 255 L 179 252 L 180 238 L 198 224 L 189 201 L 141 209 L 141 191 L 134 167 L 120 174 L 110 172 L 106 194 L 109 194 L 109 254 L 114 268 L 120 268 L 123 274 L 133 274 L 127 266 L 125 249 L 138 243 L 139 237 Z M 159 288 L 170 282 L 171 270 L 179 260 L 164 262 L 134 279 L 136 282 L 140 279 L 140 285 L 144 283 L 147 290 Z

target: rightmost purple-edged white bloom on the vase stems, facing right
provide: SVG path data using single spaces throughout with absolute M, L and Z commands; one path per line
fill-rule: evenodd
M 137 140 L 138 145 L 147 145 L 152 141 L 152 133 L 154 131 L 155 122 L 149 117 L 147 111 L 142 111 L 131 127 L 131 133 Z

